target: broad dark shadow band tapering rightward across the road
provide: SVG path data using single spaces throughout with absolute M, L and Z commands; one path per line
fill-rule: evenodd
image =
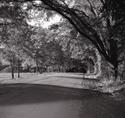
M 100 92 L 52 85 L 4 84 L 0 85 L 0 105 L 32 104 L 64 100 L 92 99 Z

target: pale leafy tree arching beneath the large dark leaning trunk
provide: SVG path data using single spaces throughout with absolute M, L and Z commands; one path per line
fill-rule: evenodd
M 68 54 L 70 60 L 72 58 L 81 61 L 81 65 L 84 63 L 87 66 L 86 78 L 97 78 L 101 75 L 101 56 L 97 49 L 66 20 L 52 25 L 47 34 L 51 41 L 62 46 L 64 54 Z

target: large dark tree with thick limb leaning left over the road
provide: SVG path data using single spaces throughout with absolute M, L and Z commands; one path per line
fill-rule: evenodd
M 113 78 L 118 78 L 119 58 L 124 50 L 124 1 L 75 0 L 72 5 L 70 0 L 41 1 L 47 6 L 46 9 L 62 15 L 81 35 L 90 40 L 111 65 Z

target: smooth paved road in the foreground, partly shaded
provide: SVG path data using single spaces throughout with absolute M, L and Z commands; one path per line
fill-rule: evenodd
M 125 100 L 89 90 L 2 85 L 0 118 L 125 118 Z

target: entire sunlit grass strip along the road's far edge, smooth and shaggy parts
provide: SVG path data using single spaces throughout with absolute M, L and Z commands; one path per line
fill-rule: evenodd
M 47 78 L 49 78 L 47 80 Z M 13 84 L 13 83 L 36 83 L 39 84 L 59 84 L 59 86 L 76 87 L 80 89 L 91 89 L 101 91 L 103 93 L 114 94 L 125 89 L 125 81 L 117 80 L 101 80 L 101 79 L 88 79 L 83 78 L 82 73 L 21 73 L 21 77 L 17 77 L 15 73 L 15 79 L 11 78 L 11 73 L 0 73 L 0 84 Z M 54 83 L 55 82 L 55 83 Z M 60 84 L 60 83 L 61 84 Z M 72 86 L 70 86 L 72 84 Z M 75 85 L 77 84 L 77 86 Z

